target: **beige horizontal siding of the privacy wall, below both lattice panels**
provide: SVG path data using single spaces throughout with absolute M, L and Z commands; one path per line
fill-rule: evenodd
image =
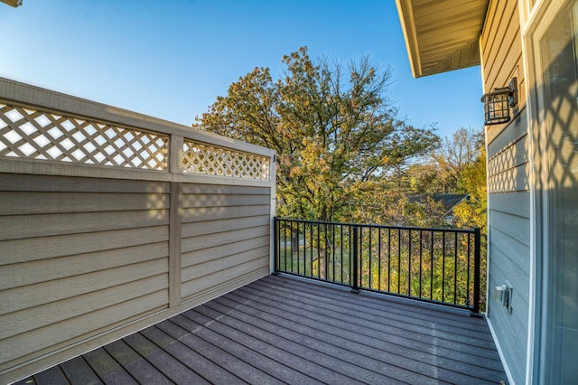
M 172 273 L 170 183 L 0 174 L 0 371 L 269 273 L 271 189 L 182 184 Z

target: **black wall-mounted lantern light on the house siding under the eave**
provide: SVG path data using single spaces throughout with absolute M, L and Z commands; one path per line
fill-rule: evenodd
M 509 108 L 517 105 L 517 78 L 508 87 L 494 89 L 481 97 L 484 104 L 484 125 L 499 125 L 509 122 Z

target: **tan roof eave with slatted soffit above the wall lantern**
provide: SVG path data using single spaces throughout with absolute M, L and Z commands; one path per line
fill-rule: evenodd
M 489 0 L 396 0 L 415 78 L 480 64 Z

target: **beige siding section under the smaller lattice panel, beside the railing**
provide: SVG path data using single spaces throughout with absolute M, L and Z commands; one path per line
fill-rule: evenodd
M 182 194 L 182 299 L 216 282 L 269 270 L 268 188 L 186 183 Z

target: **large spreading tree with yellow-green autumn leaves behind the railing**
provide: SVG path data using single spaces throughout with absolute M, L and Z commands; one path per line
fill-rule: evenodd
M 396 117 L 391 71 L 368 58 L 344 70 L 302 47 L 283 63 L 282 79 L 267 68 L 241 77 L 193 126 L 275 149 L 278 215 L 351 221 L 368 199 L 387 210 L 368 192 L 431 152 L 438 136 Z

